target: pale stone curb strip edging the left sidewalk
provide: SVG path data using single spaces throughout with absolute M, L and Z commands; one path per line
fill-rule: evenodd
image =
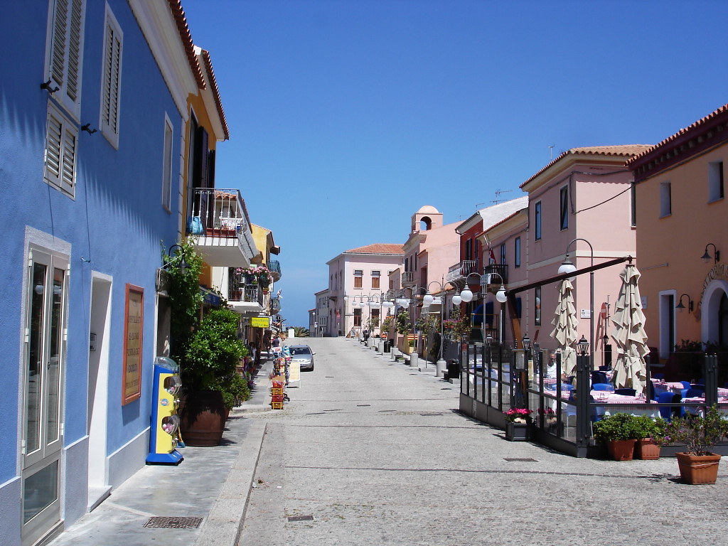
M 240 453 L 202 524 L 195 546 L 237 545 L 265 434 L 265 422 L 252 419 Z

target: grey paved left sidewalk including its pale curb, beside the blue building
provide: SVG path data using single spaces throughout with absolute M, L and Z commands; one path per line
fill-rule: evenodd
M 221 446 L 181 448 L 178 466 L 141 468 L 50 545 L 234 546 L 265 435 L 264 420 L 245 415 L 270 410 L 271 368 L 261 365 L 252 397 L 231 411 Z M 164 527 L 146 527 L 150 518 Z

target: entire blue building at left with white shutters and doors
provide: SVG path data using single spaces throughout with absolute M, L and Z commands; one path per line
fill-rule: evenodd
M 156 274 L 204 83 L 178 1 L 3 8 L 0 537 L 26 546 L 144 464 Z

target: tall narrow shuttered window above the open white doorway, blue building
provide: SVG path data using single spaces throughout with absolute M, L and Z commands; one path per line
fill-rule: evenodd
M 101 74 L 101 119 L 99 127 L 114 148 L 119 147 L 119 92 L 122 83 L 124 35 L 114 14 L 106 7 L 106 33 Z

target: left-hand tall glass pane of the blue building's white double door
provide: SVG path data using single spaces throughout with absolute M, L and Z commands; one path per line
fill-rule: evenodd
M 28 332 L 28 369 L 25 371 L 25 453 L 38 451 L 41 436 L 41 398 L 43 392 L 44 324 L 47 266 L 33 264 L 31 317 Z

